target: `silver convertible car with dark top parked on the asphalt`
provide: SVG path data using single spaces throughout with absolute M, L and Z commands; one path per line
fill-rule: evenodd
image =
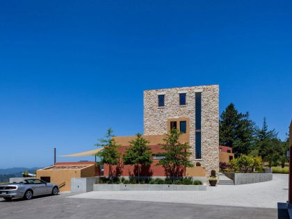
M 11 200 L 13 197 L 31 200 L 36 195 L 57 195 L 58 192 L 56 184 L 48 184 L 40 179 L 24 179 L 20 183 L 0 185 L 0 197 L 4 200 Z

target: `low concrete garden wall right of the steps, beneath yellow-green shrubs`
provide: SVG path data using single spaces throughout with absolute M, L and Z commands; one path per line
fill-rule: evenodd
M 256 184 L 263 181 L 273 180 L 272 173 L 237 173 L 225 172 L 227 177 L 234 181 L 234 185 Z

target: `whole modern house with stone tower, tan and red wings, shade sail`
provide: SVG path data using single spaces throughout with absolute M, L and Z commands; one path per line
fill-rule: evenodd
M 193 168 L 182 168 L 181 176 L 198 177 L 206 182 L 211 170 L 219 171 L 219 86 L 193 86 L 144 91 L 144 133 L 152 149 L 153 163 L 143 167 L 140 176 L 165 177 L 168 172 L 163 166 L 156 165 L 159 152 L 163 152 L 161 143 L 171 129 L 181 133 L 180 143 L 188 143 L 189 157 Z M 122 145 L 120 152 L 129 147 L 129 141 L 136 136 L 116 136 L 117 144 Z M 65 156 L 93 156 L 102 148 Z M 70 190 L 72 178 L 107 176 L 109 167 L 104 165 L 104 173 L 94 163 L 55 163 L 54 166 L 37 171 L 37 177 L 63 185 L 61 190 Z M 136 175 L 133 165 L 112 167 L 116 176 Z M 64 185 L 65 183 L 65 185 Z

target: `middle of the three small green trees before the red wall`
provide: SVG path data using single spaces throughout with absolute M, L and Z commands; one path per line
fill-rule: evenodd
M 131 140 L 130 147 L 126 150 L 123 161 L 126 165 L 136 165 L 138 168 L 138 181 L 140 182 L 140 171 L 143 165 L 150 165 L 152 163 L 152 151 L 147 144 L 145 138 L 140 133 L 136 134 L 136 138 Z

